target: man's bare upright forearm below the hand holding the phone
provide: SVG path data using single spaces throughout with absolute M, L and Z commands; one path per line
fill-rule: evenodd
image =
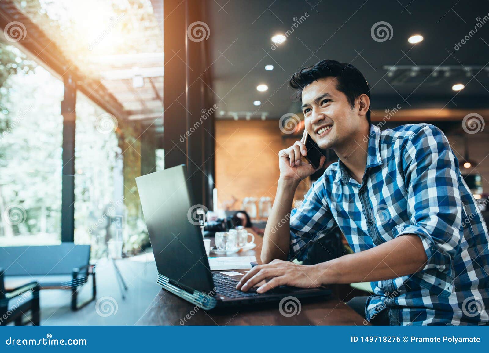
M 286 260 L 290 244 L 290 209 L 299 181 L 279 179 L 277 194 L 268 216 L 263 238 L 261 259 L 264 264 L 275 260 Z

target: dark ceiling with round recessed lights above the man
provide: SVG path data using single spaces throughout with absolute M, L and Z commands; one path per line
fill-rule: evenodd
M 210 0 L 207 11 L 219 110 L 267 112 L 269 118 L 295 113 L 289 77 L 322 59 L 354 64 L 372 86 L 373 109 L 489 106 L 487 0 Z M 373 39 L 371 28 L 379 21 L 390 24 L 391 39 Z M 270 38 L 288 30 L 287 41 L 272 50 Z M 408 43 L 413 34 L 424 41 Z M 266 64 L 274 69 L 266 71 Z M 385 65 L 409 68 L 388 74 Z M 421 65 L 428 67 L 411 73 L 410 66 Z M 436 67 L 441 71 L 434 77 Z M 459 82 L 466 88 L 452 91 Z M 266 92 L 256 90 L 260 83 L 268 85 Z M 255 100 L 262 105 L 254 106 Z

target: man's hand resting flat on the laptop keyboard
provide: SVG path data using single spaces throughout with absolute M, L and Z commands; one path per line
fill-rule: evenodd
M 260 282 L 268 280 L 256 291 L 265 293 L 279 286 L 299 288 L 317 288 L 322 285 L 320 277 L 324 270 L 312 265 L 298 265 L 290 261 L 273 260 L 266 265 L 258 265 L 249 270 L 236 286 L 236 289 L 248 291 Z

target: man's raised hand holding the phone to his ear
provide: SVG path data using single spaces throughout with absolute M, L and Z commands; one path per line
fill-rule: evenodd
M 296 141 L 289 148 L 281 150 L 278 153 L 280 178 L 300 182 L 314 173 L 317 169 L 307 163 L 307 161 L 301 161 L 301 158 L 306 155 L 306 145 L 301 141 Z M 319 168 L 323 166 L 325 160 L 326 157 L 321 157 Z

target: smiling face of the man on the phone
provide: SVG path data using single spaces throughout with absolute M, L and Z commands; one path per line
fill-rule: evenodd
M 321 149 L 338 147 L 359 131 L 361 119 L 343 92 L 336 89 L 336 78 L 327 77 L 302 90 L 302 112 L 306 130 Z

